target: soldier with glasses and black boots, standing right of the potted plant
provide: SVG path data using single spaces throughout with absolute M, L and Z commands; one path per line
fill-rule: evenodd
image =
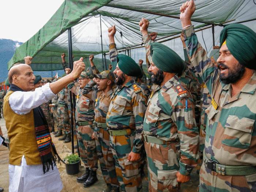
M 69 69 L 69 71 L 71 71 Z M 69 72 L 68 72 L 69 73 Z M 76 87 L 74 83 L 68 85 L 68 89 L 71 90 L 77 97 L 76 99 L 76 136 L 78 139 L 78 147 L 81 155 L 81 159 L 86 167 L 86 173 L 77 178 L 78 182 L 84 182 L 84 187 L 89 187 L 98 181 L 96 170 L 98 169 L 98 157 L 95 140 L 92 139 L 94 132 L 94 111 L 93 104 L 96 99 L 96 91 L 92 89 L 90 98 L 83 96 L 83 88 L 93 78 L 89 72 L 83 71 L 79 76 L 79 87 Z

